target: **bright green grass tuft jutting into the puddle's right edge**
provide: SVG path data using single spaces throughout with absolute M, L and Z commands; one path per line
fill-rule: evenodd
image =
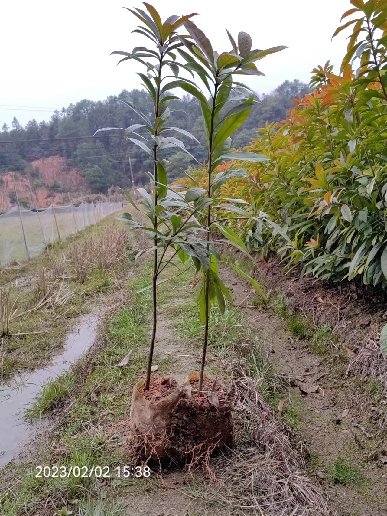
M 54 408 L 61 399 L 70 394 L 76 379 L 76 375 L 69 371 L 58 378 L 49 378 L 42 385 L 36 399 L 26 409 L 26 418 L 32 420 L 33 418 L 40 417 L 44 412 Z

